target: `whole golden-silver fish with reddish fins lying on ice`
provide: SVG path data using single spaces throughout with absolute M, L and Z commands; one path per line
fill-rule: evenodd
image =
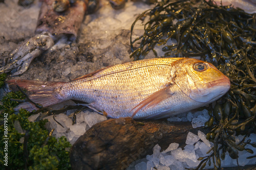
M 162 118 L 216 101 L 230 88 L 214 65 L 191 58 L 155 58 L 106 67 L 71 82 L 10 80 L 35 103 L 86 102 L 109 117 Z M 27 102 L 16 109 L 36 107 Z

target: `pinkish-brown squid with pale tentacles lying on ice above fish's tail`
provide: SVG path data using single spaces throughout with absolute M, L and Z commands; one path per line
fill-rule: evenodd
M 0 73 L 12 71 L 12 76 L 23 74 L 31 61 L 51 48 L 54 45 L 53 42 L 62 38 L 63 34 L 72 41 L 76 39 L 87 9 L 87 2 L 76 1 L 66 9 L 61 7 L 64 2 L 60 2 L 60 5 L 56 5 L 56 2 L 43 1 L 37 21 L 36 35 L 25 41 L 4 60 Z

